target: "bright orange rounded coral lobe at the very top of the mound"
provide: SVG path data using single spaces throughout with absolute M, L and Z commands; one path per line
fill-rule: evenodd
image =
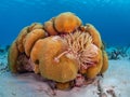
M 81 25 L 81 19 L 70 12 L 62 13 L 54 19 L 58 32 L 73 32 Z

